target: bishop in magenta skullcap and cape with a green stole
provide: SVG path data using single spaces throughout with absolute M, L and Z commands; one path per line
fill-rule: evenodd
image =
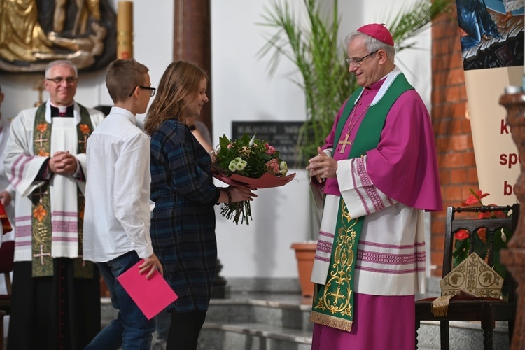
M 360 27 L 345 43 L 360 88 L 307 167 L 324 194 L 312 349 L 414 349 L 423 211 L 442 210 L 432 123 L 384 25 Z

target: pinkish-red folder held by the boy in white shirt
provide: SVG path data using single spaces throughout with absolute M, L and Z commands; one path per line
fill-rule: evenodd
M 155 271 L 151 279 L 146 279 L 146 273 L 139 274 L 139 265 L 143 262 L 144 259 L 137 262 L 118 276 L 117 280 L 141 309 L 144 316 L 151 320 L 177 300 L 178 296 L 158 271 Z

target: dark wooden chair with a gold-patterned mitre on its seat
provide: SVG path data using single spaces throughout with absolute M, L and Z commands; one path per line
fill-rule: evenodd
M 475 212 L 500 211 L 512 209 L 512 218 L 472 218 Z M 470 213 L 470 218 L 456 216 L 459 213 Z M 452 270 L 452 252 L 454 251 L 454 234 L 459 230 L 477 232 L 479 228 L 486 228 L 486 240 L 489 242 L 489 261 L 493 265 L 493 235 L 501 228 L 507 228 L 514 232 L 517 227 L 519 216 L 519 204 L 506 207 L 462 207 L 447 209 L 447 227 L 444 241 L 443 277 L 447 276 Z M 472 235 L 470 235 L 472 238 Z M 474 249 L 474 239 L 470 239 L 470 251 Z M 484 257 L 482 257 L 484 258 Z M 516 283 L 512 276 L 507 276 L 503 283 L 503 289 L 508 290 L 508 301 L 477 297 L 472 299 L 450 300 L 447 316 L 436 317 L 432 313 L 432 301 L 435 298 L 416 300 L 416 349 L 417 349 L 417 330 L 421 321 L 440 321 L 441 349 L 449 349 L 449 321 L 479 321 L 483 333 L 483 344 L 485 350 L 493 349 L 493 330 L 496 321 L 508 321 L 509 325 L 509 344 L 514 330 L 514 319 L 516 317 Z

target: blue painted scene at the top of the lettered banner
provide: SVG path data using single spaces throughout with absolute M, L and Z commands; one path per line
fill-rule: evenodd
M 521 66 L 524 0 L 456 0 L 463 68 Z

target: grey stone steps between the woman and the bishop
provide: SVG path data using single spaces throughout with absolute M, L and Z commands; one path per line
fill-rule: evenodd
M 212 299 L 199 349 L 311 349 L 311 299 L 240 293 Z

